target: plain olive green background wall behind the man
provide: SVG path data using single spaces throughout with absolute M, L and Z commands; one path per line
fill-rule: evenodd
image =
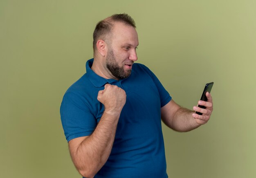
M 163 125 L 168 176 L 255 178 L 255 0 L 1 0 L 0 177 L 81 177 L 59 107 L 92 58 L 95 24 L 124 12 L 137 24 L 137 62 L 177 103 L 192 109 L 215 82 L 206 125 Z

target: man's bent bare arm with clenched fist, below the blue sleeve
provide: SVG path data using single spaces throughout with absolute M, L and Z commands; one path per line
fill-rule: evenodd
M 105 89 L 99 91 L 97 99 L 103 103 L 105 111 L 96 129 L 90 136 L 69 141 L 73 163 L 86 178 L 93 178 L 108 160 L 126 93 L 117 86 L 106 84 Z

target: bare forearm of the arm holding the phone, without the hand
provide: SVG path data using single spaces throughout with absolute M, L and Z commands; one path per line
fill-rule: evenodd
M 200 124 L 193 118 L 193 113 L 194 111 L 189 109 L 179 108 L 173 116 L 171 123 L 172 129 L 179 132 L 188 132 L 199 127 Z

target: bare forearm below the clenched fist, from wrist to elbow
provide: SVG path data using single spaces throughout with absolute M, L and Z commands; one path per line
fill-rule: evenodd
M 93 177 L 106 163 L 115 139 L 119 116 L 104 112 L 92 135 L 85 138 L 72 154 L 74 165 L 83 176 Z

